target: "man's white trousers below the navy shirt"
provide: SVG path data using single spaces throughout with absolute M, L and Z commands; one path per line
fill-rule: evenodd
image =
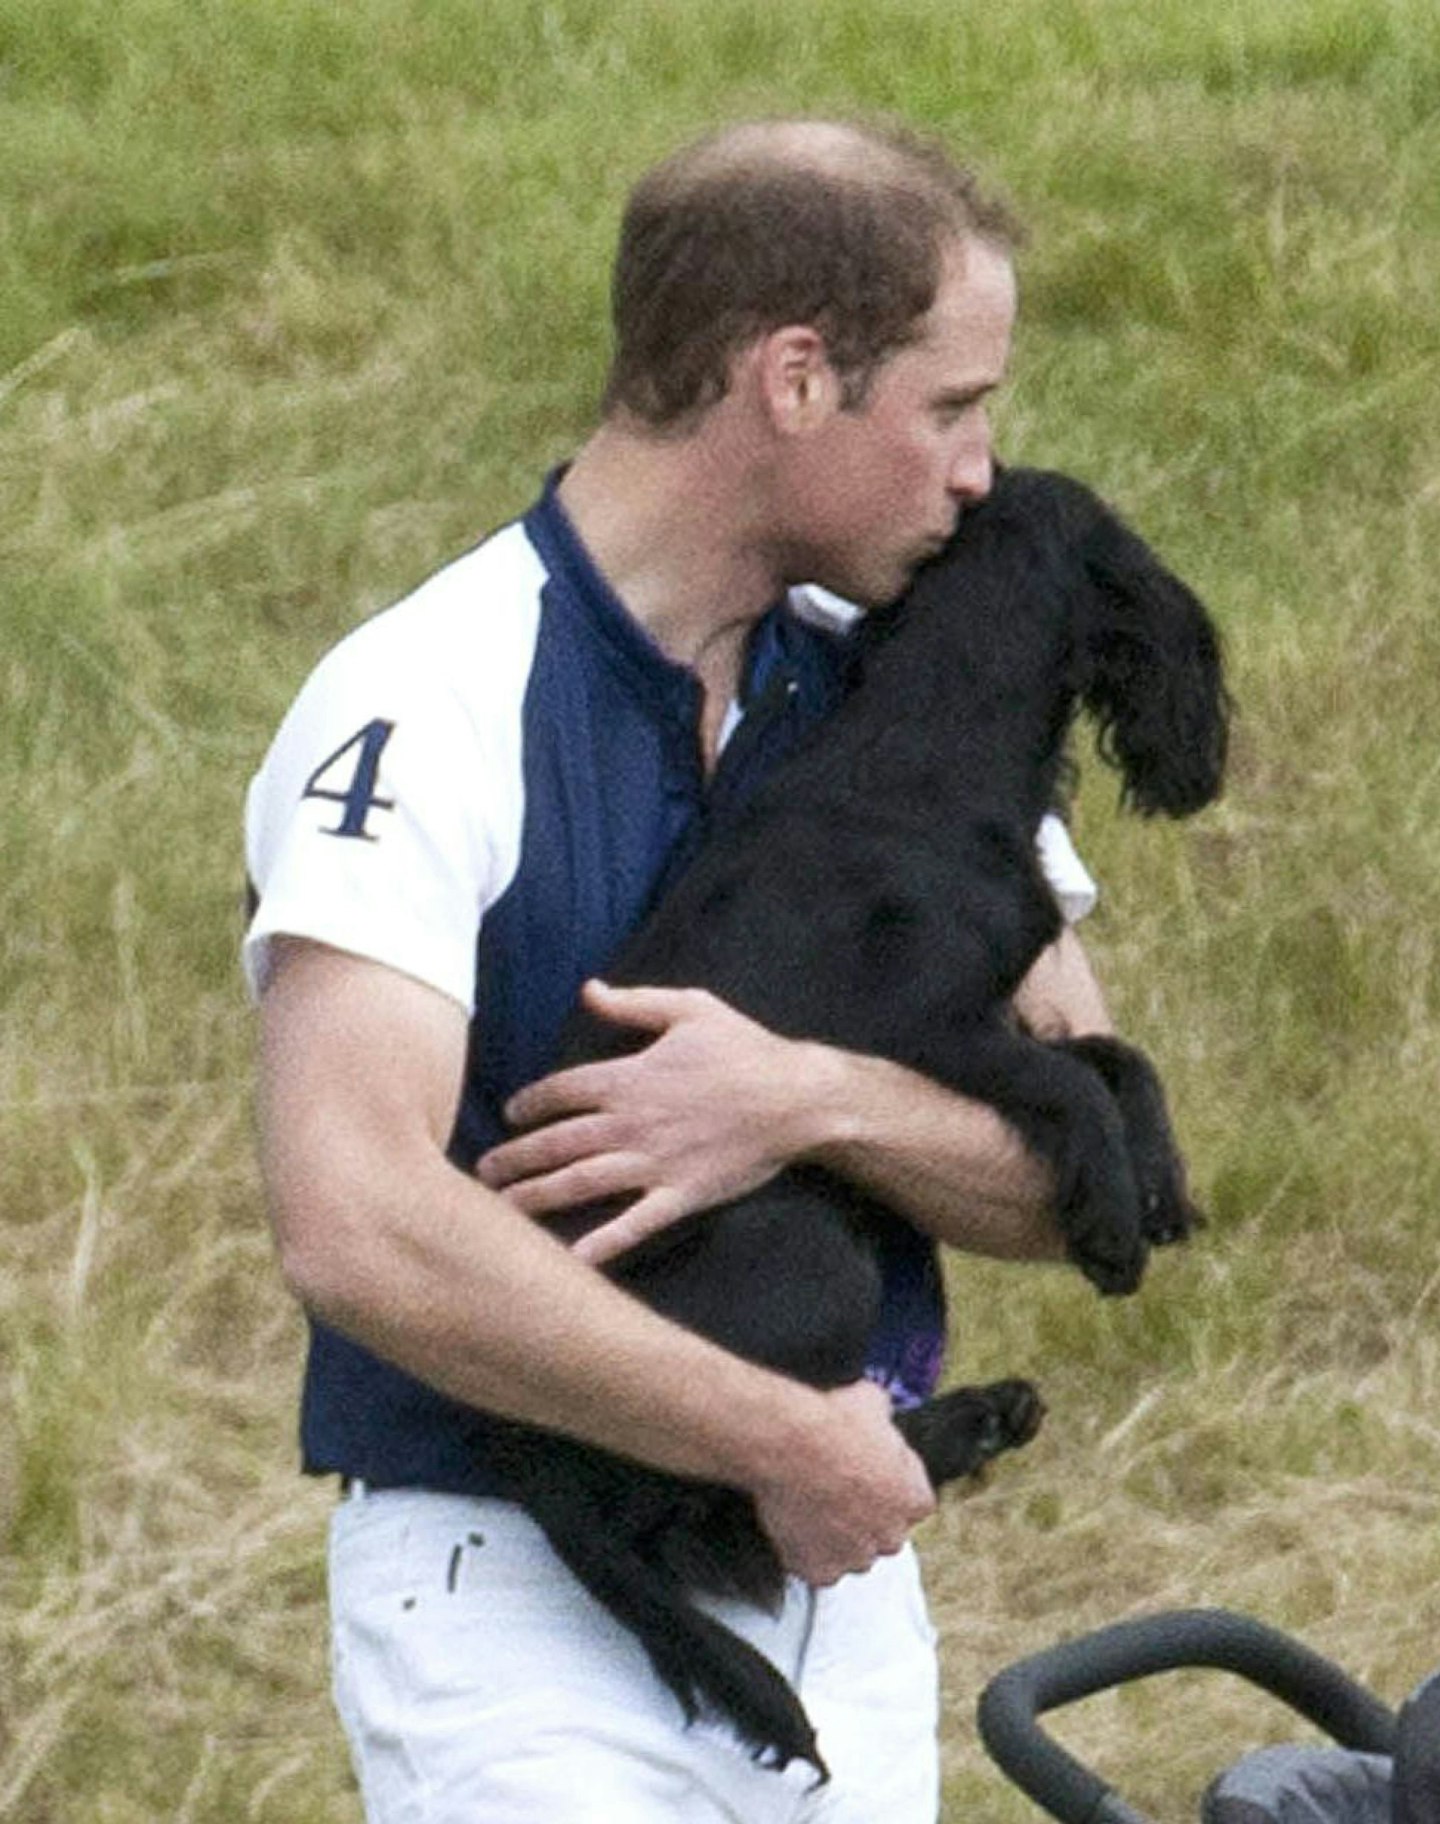
M 708 1603 L 798 1689 L 830 1767 L 684 1726 L 644 1649 L 507 1501 L 391 1490 L 330 1527 L 336 1704 L 369 1824 L 934 1824 L 934 1632 L 913 1550 L 779 1616 Z

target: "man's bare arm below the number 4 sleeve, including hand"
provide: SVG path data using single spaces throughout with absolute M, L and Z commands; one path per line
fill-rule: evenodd
M 929 1512 L 883 1399 L 819 1394 L 657 1317 L 445 1158 L 460 1009 L 319 945 L 261 1003 L 263 1167 L 316 1317 L 445 1394 L 745 1488 L 787 1565 L 832 1581 Z

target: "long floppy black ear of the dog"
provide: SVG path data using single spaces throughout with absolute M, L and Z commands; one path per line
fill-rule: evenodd
M 1080 697 L 1122 801 L 1188 817 L 1221 788 L 1230 730 L 1219 633 L 1205 604 L 1110 509 L 1084 540 Z

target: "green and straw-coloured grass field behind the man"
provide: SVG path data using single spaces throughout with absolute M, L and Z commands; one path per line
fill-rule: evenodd
M 245 781 L 358 617 L 590 423 L 628 181 L 887 111 L 1035 233 L 1002 447 L 1212 602 L 1183 830 L 1086 770 L 1090 927 L 1206 1233 L 1141 1297 L 958 1262 L 1051 1419 L 923 1536 L 973 1696 L 1172 1603 L 1398 1698 L 1440 1660 L 1440 13 L 1433 0 L 0 0 L 0 1819 L 354 1824 L 235 970 Z M 1066 1738 L 1166 1820 L 1290 1720 L 1217 1678 Z

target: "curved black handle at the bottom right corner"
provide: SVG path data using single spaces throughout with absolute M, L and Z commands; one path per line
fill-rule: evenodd
M 1060 1824 L 1148 1824 L 1038 1724 L 1044 1711 L 1181 1667 L 1237 1673 L 1318 1724 L 1341 1747 L 1394 1753 L 1396 1716 L 1289 1634 L 1228 1609 L 1170 1609 L 1117 1622 L 1018 1660 L 980 1693 L 980 1740 Z

